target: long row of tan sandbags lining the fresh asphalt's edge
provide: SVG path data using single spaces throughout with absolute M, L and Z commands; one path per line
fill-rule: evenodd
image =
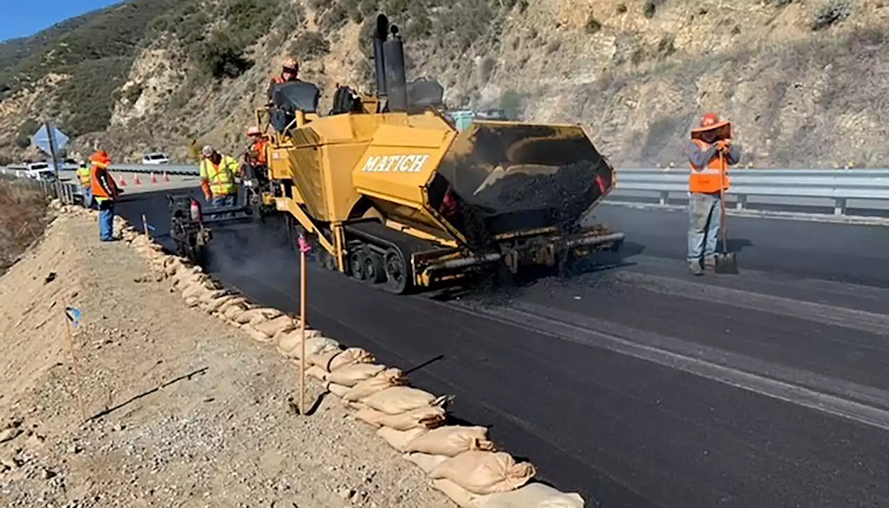
M 223 288 L 199 266 L 163 253 L 160 246 L 124 226 L 124 240 L 148 258 L 152 270 L 172 279 L 172 290 L 188 306 L 243 329 L 278 353 L 300 360 L 306 337 L 308 376 L 324 382 L 356 419 L 378 428 L 377 434 L 404 458 L 428 474 L 433 485 L 464 508 L 582 508 L 578 494 L 564 494 L 533 482 L 532 464 L 517 462 L 498 450 L 481 426 L 445 425 L 450 397 L 436 397 L 409 385 L 404 372 L 376 363 L 371 353 L 343 348 L 319 331 L 301 332 L 299 320 L 273 308 L 256 306 Z

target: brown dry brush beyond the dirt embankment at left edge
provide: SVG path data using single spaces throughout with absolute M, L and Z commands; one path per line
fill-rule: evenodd
M 44 232 L 46 199 L 27 182 L 0 179 L 0 274 Z

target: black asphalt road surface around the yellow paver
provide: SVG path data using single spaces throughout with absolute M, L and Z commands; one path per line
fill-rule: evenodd
M 625 248 L 568 281 L 396 297 L 313 267 L 308 321 L 588 506 L 889 506 L 889 229 L 730 218 L 742 273 L 693 278 L 685 214 L 597 211 Z M 121 212 L 165 226 L 154 194 Z M 210 271 L 298 311 L 281 233 L 216 228 Z

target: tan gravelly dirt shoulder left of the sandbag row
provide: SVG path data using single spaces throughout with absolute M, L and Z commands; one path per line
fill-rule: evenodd
M 335 397 L 297 415 L 290 363 L 97 236 L 58 218 L 0 278 L 0 504 L 453 506 Z M 84 313 L 79 380 L 66 301 Z

